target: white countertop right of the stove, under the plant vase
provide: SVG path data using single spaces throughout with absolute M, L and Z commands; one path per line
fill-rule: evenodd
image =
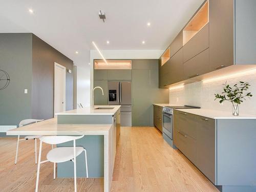
M 233 116 L 232 112 L 210 110 L 210 109 L 176 109 L 186 113 L 200 115 L 211 119 L 256 119 L 256 115 L 240 114 L 239 116 Z

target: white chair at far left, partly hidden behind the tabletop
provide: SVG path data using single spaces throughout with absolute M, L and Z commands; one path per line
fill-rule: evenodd
M 31 123 L 36 123 L 39 121 L 43 121 L 44 119 L 24 119 L 22 121 L 19 122 L 19 127 L 20 126 L 24 126 L 27 124 L 31 124 Z M 23 141 L 23 140 L 29 140 L 29 139 L 34 139 L 35 140 L 35 164 L 37 163 L 37 150 L 36 150 L 36 138 L 41 137 L 40 135 L 29 135 L 26 136 L 24 139 L 19 139 L 19 135 L 18 135 L 18 140 L 17 140 L 17 148 L 16 148 L 16 156 L 15 156 L 15 164 L 17 164 L 17 157 L 18 157 L 18 144 L 19 141 Z

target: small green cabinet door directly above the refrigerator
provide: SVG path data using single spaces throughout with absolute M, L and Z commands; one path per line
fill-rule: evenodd
M 109 80 L 131 80 L 132 70 L 129 69 L 109 69 L 108 70 Z

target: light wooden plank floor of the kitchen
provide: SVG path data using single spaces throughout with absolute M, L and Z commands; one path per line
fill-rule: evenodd
M 0 191 L 34 191 L 33 140 L 0 138 Z M 38 145 L 39 146 L 39 143 Z M 43 145 L 42 159 L 50 150 Z M 73 179 L 53 180 L 53 163 L 41 165 L 39 191 L 74 191 Z M 103 191 L 103 179 L 77 179 L 78 191 Z M 154 127 L 122 127 L 111 191 L 218 191 L 186 157 L 173 150 Z

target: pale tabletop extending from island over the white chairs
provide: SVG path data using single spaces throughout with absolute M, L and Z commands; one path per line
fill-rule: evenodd
M 6 135 L 108 135 L 112 124 L 57 124 L 57 118 L 28 124 Z

